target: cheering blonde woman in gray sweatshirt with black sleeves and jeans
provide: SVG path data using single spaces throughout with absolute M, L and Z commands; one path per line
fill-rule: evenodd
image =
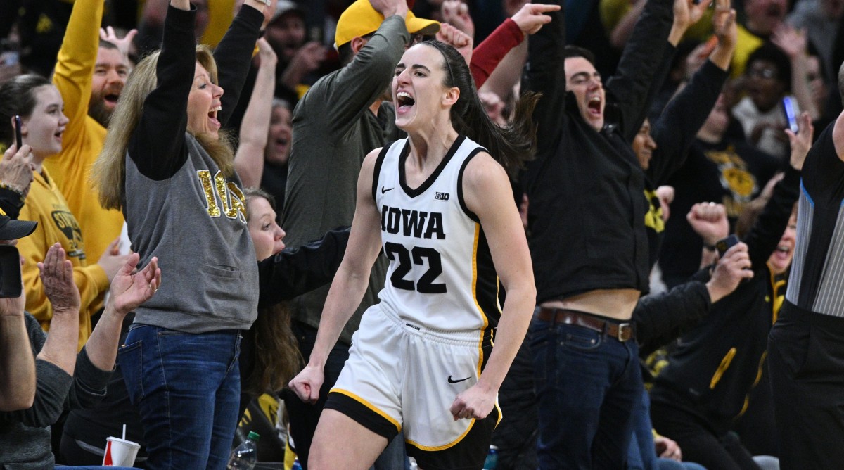
M 148 468 L 225 468 L 241 392 L 241 332 L 258 270 L 246 201 L 220 132 L 239 98 L 264 3 L 246 0 L 212 55 L 196 9 L 171 0 L 161 51 L 127 82 L 95 164 L 100 202 L 121 208 L 141 265 L 165 278 L 137 309 L 119 359 Z

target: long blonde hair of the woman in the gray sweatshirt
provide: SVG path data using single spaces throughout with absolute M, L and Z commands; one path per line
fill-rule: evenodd
M 143 101 L 146 100 L 156 86 L 158 77 L 156 69 L 160 51 L 155 51 L 144 57 L 129 75 L 126 88 L 123 89 L 117 102 L 114 114 L 106 134 L 100 156 L 91 167 L 91 181 L 100 193 L 100 204 L 108 209 L 121 209 L 126 195 L 126 154 L 129 139 L 143 113 Z M 214 84 L 218 83 L 217 62 L 208 46 L 200 45 L 196 49 L 196 59 L 211 77 Z M 187 110 L 184 112 L 187 113 Z M 218 138 L 210 138 L 205 134 L 194 134 L 188 129 L 203 149 L 208 152 L 214 163 L 219 166 L 225 176 L 234 174 L 235 152 L 232 148 L 230 134 L 219 132 Z

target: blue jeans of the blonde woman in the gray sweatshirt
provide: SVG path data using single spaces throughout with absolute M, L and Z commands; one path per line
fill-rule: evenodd
M 135 324 L 117 358 L 147 442 L 146 467 L 224 469 L 237 425 L 241 333 Z

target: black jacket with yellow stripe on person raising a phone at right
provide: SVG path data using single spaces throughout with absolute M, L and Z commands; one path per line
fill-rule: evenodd
M 756 220 L 747 243 L 754 277 L 711 307 L 704 321 L 683 335 L 657 375 L 652 401 L 701 416 L 726 432 L 754 385 L 775 319 L 775 298 L 785 294 L 766 262 L 782 238 L 798 199 L 800 174 L 789 169 Z

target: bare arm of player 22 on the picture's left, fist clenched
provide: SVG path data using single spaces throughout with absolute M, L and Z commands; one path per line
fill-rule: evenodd
M 346 251 L 331 289 L 328 290 L 311 359 L 305 369 L 290 381 L 290 388 L 303 402 L 317 402 L 320 387 L 325 379 L 322 369 L 328 352 L 337 343 L 340 332 L 363 299 L 369 284 L 372 264 L 381 251 L 381 213 L 378 212 L 372 195 L 372 178 L 380 152 L 381 149 L 372 150 L 361 165 L 357 205 L 354 208 L 352 230 L 349 234 L 349 245 L 355 249 Z

